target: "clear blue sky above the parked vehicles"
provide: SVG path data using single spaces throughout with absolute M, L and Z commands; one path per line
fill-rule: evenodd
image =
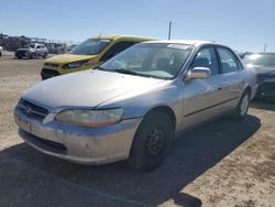
M 0 0 L 0 33 L 81 42 L 125 34 L 275 52 L 275 0 Z

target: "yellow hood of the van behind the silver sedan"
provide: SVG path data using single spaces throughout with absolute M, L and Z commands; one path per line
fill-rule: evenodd
M 96 55 L 63 54 L 63 55 L 55 55 L 48 58 L 45 63 L 67 64 L 77 61 L 90 59 L 92 57 L 96 57 Z

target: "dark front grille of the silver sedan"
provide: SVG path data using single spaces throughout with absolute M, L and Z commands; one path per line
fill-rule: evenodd
M 29 117 L 33 117 L 36 119 L 44 119 L 48 111 L 42 107 L 38 107 L 36 105 L 33 105 L 24 99 L 20 99 L 18 107 L 22 112 L 28 115 Z

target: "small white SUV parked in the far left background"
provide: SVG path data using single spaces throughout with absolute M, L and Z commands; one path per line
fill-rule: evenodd
M 43 58 L 47 57 L 47 47 L 44 44 L 28 44 L 25 48 L 19 48 L 14 53 L 14 56 L 19 59 L 26 57 L 26 58 L 36 58 L 42 56 Z

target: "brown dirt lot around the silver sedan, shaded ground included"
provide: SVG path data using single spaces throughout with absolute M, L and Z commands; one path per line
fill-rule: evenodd
M 40 81 L 43 59 L 0 58 L 0 206 L 275 206 L 275 102 L 253 102 L 178 134 L 156 171 L 124 162 L 82 166 L 48 157 L 19 138 L 12 110 Z

